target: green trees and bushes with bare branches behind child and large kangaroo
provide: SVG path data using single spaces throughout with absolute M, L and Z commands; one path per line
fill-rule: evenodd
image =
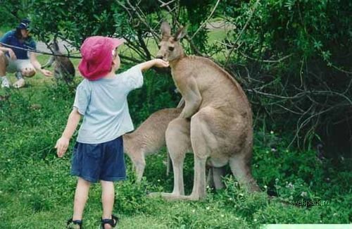
M 45 41 L 58 36 L 80 47 L 92 35 L 124 37 L 130 54 L 122 61 L 130 63 L 153 58 L 161 21 L 186 25 L 187 53 L 213 58 L 239 80 L 257 128 L 290 133 L 300 147 L 325 142 L 352 154 L 351 1 L 34 0 L 13 7 L 19 6 L 13 13 L 23 16 L 25 7 L 33 33 Z M 209 41 L 210 21 L 230 25 L 223 39 Z

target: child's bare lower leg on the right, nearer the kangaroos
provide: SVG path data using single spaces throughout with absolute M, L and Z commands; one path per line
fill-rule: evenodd
M 111 218 L 113 214 L 113 204 L 115 200 L 115 187 L 112 181 L 101 180 L 101 202 L 103 203 L 103 216 L 101 218 Z M 111 228 L 111 225 L 106 223 L 106 229 Z

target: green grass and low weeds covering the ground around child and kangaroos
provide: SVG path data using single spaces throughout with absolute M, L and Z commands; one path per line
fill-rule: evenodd
M 218 35 L 214 35 L 218 36 Z M 39 55 L 45 63 L 47 56 Z M 75 66 L 77 59 L 73 59 Z M 125 66 L 124 66 L 125 67 Z M 51 69 L 52 70 L 52 69 Z M 78 74 L 77 74 L 78 75 Z M 138 125 L 153 111 L 175 106 L 179 98 L 172 80 L 152 70 L 145 84 L 129 96 L 130 113 Z M 10 75 L 11 81 L 14 76 Z M 76 83 L 82 78 L 77 77 Z M 0 228 L 64 228 L 71 217 L 76 178 L 70 176 L 70 150 L 56 157 L 54 144 L 70 113 L 74 95 L 62 83 L 38 73 L 22 89 L 0 89 Z M 39 106 L 33 106 L 37 104 Z M 165 149 L 147 157 L 145 178 L 134 182 L 127 159 L 128 180 L 115 184 L 114 213 L 120 228 L 258 228 L 264 223 L 352 223 L 351 159 L 320 161 L 315 151 L 287 149 L 284 133 L 256 129 L 253 176 L 261 193 L 241 190 L 231 175 L 226 189 L 208 188 L 201 202 L 166 202 L 149 192 L 170 192 L 165 175 Z M 193 159 L 184 164 L 186 192 L 193 185 Z M 269 198 L 268 194 L 273 198 Z M 101 188 L 93 185 L 84 212 L 84 228 L 97 228 Z M 294 206 L 291 201 L 327 200 L 329 206 Z

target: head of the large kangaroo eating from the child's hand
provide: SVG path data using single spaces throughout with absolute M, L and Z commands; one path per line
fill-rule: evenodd
M 161 42 L 159 43 L 159 51 L 156 58 L 162 58 L 164 61 L 174 61 L 184 56 L 184 51 L 180 44 L 180 39 L 186 35 L 184 27 L 171 35 L 171 28 L 167 22 L 161 24 Z

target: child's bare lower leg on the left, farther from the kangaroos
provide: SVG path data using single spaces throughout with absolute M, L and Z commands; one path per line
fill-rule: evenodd
M 78 178 L 75 202 L 73 204 L 73 220 L 82 220 L 84 206 L 88 199 L 90 182 L 83 178 Z

